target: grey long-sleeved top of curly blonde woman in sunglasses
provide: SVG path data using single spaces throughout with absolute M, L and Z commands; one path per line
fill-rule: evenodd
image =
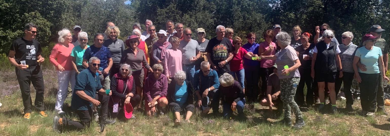
M 124 42 L 121 39 L 107 39 L 103 42 L 103 46 L 110 50 L 113 63 L 119 63 L 121 61 L 122 52 L 125 49 Z

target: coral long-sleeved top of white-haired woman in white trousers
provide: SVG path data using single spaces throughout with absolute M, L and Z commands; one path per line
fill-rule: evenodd
M 64 45 L 57 43 L 56 45 L 54 45 L 53 50 L 51 50 L 49 60 L 51 64 L 56 66 L 55 67 L 56 70 L 59 70 L 57 67 L 58 65 L 64 67 L 66 71 L 73 70 L 71 52 L 74 45 L 73 44 L 68 44 L 68 45 L 69 47 L 65 47 Z

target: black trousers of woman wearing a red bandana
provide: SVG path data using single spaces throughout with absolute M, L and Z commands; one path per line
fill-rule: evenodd
M 296 89 L 295 98 L 294 98 L 295 102 L 298 105 L 305 104 L 305 94 L 303 93 L 303 89 L 305 88 L 305 84 L 306 84 L 307 86 L 306 103 L 307 105 L 312 105 L 314 103 L 314 92 L 312 89 L 313 78 L 310 75 L 311 68 L 299 68 L 298 70 L 301 75 L 301 79 Z

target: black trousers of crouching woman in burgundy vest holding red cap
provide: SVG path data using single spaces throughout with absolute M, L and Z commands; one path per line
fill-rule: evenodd
M 112 106 L 108 107 L 108 110 L 110 110 L 110 118 L 115 119 L 119 117 L 124 117 L 124 110 L 123 110 L 124 100 L 125 99 L 122 99 L 121 103 L 119 103 L 118 112 L 112 112 L 113 107 Z M 112 99 L 110 99 L 109 101 L 112 101 Z M 141 101 L 141 97 L 138 94 L 134 94 L 134 97 L 130 99 L 130 103 L 133 106 L 133 108 L 137 106 L 140 103 L 140 101 Z

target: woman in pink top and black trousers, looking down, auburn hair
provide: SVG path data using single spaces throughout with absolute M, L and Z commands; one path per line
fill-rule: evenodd
M 276 44 L 272 42 L 274 33 L 272 30 L 264 32 L 263 37 L 266 41 L 259 45 L 259 56 L 275 55 Z M 260 59 L 260 76 L 261 76 L 261 94 L 265 94 L 269 74 L 273 73 L 272 66 L 275 61 L 271 59 Z

